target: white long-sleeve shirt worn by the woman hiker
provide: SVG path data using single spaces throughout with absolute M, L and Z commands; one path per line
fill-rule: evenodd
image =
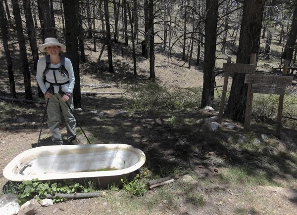
M 48 82 L 44 83 L 43 73 L 46 69 L 46 66 L 47 66 L 46 57 L 40 58 L 37 63 L 36 80 L 37 80 L 41 90 L 43 91 L 43 93 L 46 93 L 47 89 L 50 86 L 50 84 L 48 82 L 55 83 L 53 73 L 55 73 L 57 83 L 65 83 L 65 82 L 68 82 L 68 80 L 69 80 L 68 84 L 62 85 L 61 87 L 62 87 L 63 92 L 71 92 L 72 93 L 75 78 L 74 78 L 74 72 L 73 72 L 73 67 L 72 67 L 71 61 L 65 57 L 65 65 L 64 66 L 65 66 L 66 70 L 68 71 L 69 79 L 68 79 L 67 75 L 65 75 L 65 77 L 63 77 L 58 70 L 49 70 L 49 72 L 46 74 L 46 79 Z M 59 64 L 50 64 L 49 67 L 50 68 L 59 68 L 60 63 Z M 59 86 L 53 86 L 53 88 L 54 88 L 54 93 L 59 92 Z

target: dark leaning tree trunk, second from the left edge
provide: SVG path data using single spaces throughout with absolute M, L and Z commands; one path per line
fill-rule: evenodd
M 29 71 L 26 42 L 25 42 L 25 37 L 23 32 L 20 7 L 18 4 L 18 0 L 11 0 L 11 3 L 12 3 L 13 12 L 14 12 L 14 20 L 16 25 L 17 38 L 18 38 L 20 56 L 22 61 L 22 70 L 23 70 L 24 85 L 25 85 L 25 99 L 32 100 L 31 77 L 30 77 L 30 71 Z

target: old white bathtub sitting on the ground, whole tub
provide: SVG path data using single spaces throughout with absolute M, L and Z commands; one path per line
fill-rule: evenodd
M 128 177 L 145 161 L 140 149 L 126 144 L 42 146 L 17 155 L 3 175 L 11 181 L 92 179 L 106 187 Z

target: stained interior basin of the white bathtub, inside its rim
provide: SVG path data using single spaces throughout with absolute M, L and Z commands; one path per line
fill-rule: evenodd
M 123 170 L 136 165 L 140 159 L 141 154 L 125 148 L 80 148 L 71 150 L 71 153 L 67 149 L 48 150 L 23 157 L 12 171 L 19 175 L 24 165 L 28 167 L 21 175 Z

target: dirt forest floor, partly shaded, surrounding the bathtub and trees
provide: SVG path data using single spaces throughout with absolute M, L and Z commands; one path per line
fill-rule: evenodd
M 120 50 L 119 47 L 113 48 Z M 141 149 L 146 154 L 143 169 L 149 173 L 148 177 L 154 176 L 155 179 L 157 176 L 166 176 L 164 172 L 175 169 L 180 178 L 149 190 L 141 197 L 131 197 L 124 190 L 105 190 L 106 197 L 68 200 L 40 207 L 38 215 L 297 214 L 297 199 L 285 189 L 297 188 L 296 129 L 282 128 L 281 138 L 276 138 L 275 124 L 252 121 L 251 132 L 246 134 L 243 124 L 224 118 L 223 124 L 231 122 L 236 128 L 230 130 L 222 126 L 217 131 L 209 131 L 196 122 L 217 116 L 218 111 L 200 110 L 199 104 L 191 110 L 129 111 L 126 109 L 125 95 L 129 93 L 129 87 L 148 79 L 148 60 L 138 58 L 138 78 L 135 79 L 133 62 L 129 56 L 115 53 L 114 73 L 111 74 L 107 72 L 105 53 L 98 71 L 94 68 L 99 53 L 88 51 L 87 54 L 87 63 L 80 67 L 81 84 L 116 86 L 97 89 L 84 86 L 81 91 L 124 94 L 82 95 L 82 110 L 76 110 L 75 115 L 86 134 L 96 144 L 124 143 Z M 227 55 L 223 57 L 227 58 Z M 3 54 L 1 58 L 1 62 L 5 62 Z M 18 65 L 17 61 L 14 59 L 13 65 Z M 221 68 L 223 62 L 226 61 L 217 61 L 217 68 Z M 187 64 L 181 67 L 182 63 L 179 58 L 171 60 L 164 54 L 156 54 L 156 82 L 170 90 L 202 87 L 201 69 L 195 65 L 188 69 Z M 258 65 L 262 66 L 263 62 L 258 62 Z M 277 67 L 277 63 L 274 66 Z M 0 64 L 0 77 L 7 77 L 5 63 Z M 22 91 L 22 72 L 18 69 L 15 69 L 15 80 L 17 90 Z M 36 94 L 34 74 L 31 81 L 35 91 L 34 100 L 42 101 Z M 230 78 L 230 85 L 231 82 Z M 216 85 L 222 84 L 223 77 L 216 77 Z M 9 89 L 6 78 L 1 79 L 0 89 L 1 96 L 9 97 L 4 91 Z M 19 98 L 24 97 L 23 93 L 18 95 Z M 42 104 L 0 100 L 0 193 L 7 182 L 2 174 L 4 167 L 19 153 L 36 147 L 44 109 L 45 105 Z M 98 117 L 94 111 L 104 111 L 104 117 Z M 119 111 L 127 112 L 116 114 Z M 19 118 L 24 118 L 24 122 L 18 122 Z M 177 119 L 176 123 L 172 122 L 173 118 Z M 64 124 L 61 130 L 65 135 Z M 87 144 L 79 130 L 77 128 L 79 138 L 83 144 Z M 228 138 L 236 134 L 245 135 L 246 141 L 239 143 L 236 138 Z M 262 141 L 261 134 L 266 134 L 268 139 Z M 254 143 L 256 138 L 260 141 Z M 51 144 L 46 124 L 41 143 Z

